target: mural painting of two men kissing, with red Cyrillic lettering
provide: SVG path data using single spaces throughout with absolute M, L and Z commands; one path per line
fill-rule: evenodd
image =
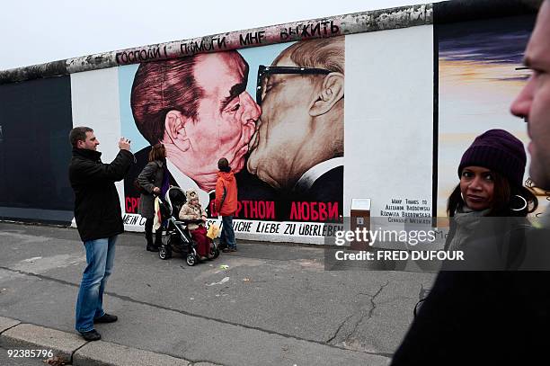
M 122 132 L 138 164 L 162 142 L 172 183 L 209 202 L 224 156 L 236 219 L 335 221 L 342 215 L 344 40 L 306 40 L 120 67 Z M 210 217 L 217 213 L 208 205 Z

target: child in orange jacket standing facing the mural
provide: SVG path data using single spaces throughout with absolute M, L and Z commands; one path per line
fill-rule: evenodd
M 217 162 L 216 201 L 217 213 L 222 217 L 222 233 L 220 237 L 223 252 L 236 252 L 235 231 L 233 230 L 233 215 L 237 209 L 237 186 L 235 175 L 229 162 L 222 157 Z

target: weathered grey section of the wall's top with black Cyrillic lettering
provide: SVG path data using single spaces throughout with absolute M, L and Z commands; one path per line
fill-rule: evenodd
M 368 31 L 384 31 L 432 22 L 432 4 L 414 4 L 335 15 L 244 31 L 227 31 L 189 40 L 174 40 L 131 49 L 120 49 L 27 67 L 16 67 L 0 71 L 0 84 L 162 59 L 189 57 L 199 53 L 245 49 L 294 40 L 328 38 Z

